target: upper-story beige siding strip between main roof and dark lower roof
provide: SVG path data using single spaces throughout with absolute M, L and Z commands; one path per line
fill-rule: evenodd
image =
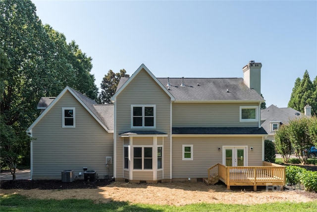
M 258 122 L 240 122 L 240 106 L 257 103 L 175 103 L 173 127 L 257 127 Z

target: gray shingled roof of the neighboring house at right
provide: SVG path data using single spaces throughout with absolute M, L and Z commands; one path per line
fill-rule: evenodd
M 261 110 L 262 127 L 268 134 L 274 134 L 271 131 L 271 123 L 287 124 L 290 120 L 304 116 L 305 114 L 293 109 L 293 108 L 278 108 L 275 105 Z

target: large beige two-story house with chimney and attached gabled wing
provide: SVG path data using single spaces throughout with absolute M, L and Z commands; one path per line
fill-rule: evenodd
M 157 78 L 142 64 L 121 78 L 114 104 L 66 87 L 42 99 L 27 131 L 32 179 L 88 167 L 116 181 L 196 181 L 216 163 L 262 166 L 261 67 L 250 61 L 243 78 Z

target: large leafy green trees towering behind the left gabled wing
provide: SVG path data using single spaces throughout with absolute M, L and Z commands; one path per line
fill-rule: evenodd
M 92 59 L 75 42 L 66 44 L 64 35 L 43 26 L 31 0 L 0 0 L 0 11 L 0 159 L 1 165 L 13 161 L 16 167 L 29 157 L 25 130 L 38 117 L 42 96 L 56 96 L 66 85 L 92 99 L 98 95 Z

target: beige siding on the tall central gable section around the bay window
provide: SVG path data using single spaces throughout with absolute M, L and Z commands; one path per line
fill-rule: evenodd
M 131 129 L 131 105 L 156 105 L 156 130 L 168 134 L 163 138 L 163 167 L 164 178 L 170 178 L 170 97 L 162 90 L 157 82 L 145 71 L 141 70 L 137 77 L 125 87 L 116 98 L 116 144 L 117 144 L 117 168 L 116 177 L 121 178 L 123 175 L 123 139 L 119 137 L 120 133 L 127 132 Z M 147 130 L 147 129 L 137 129 Z M 133 138 L 133 145 L 136 138 Z M 153 139 L 149 140 L 152 144 Z M 160 139 L 158 139 L 159 144 Z M 140 143 L 141 144 L 141 143 Z M 142 144 L 146 145 L 146 142 Z M 124 177 L 125 178 L 125 177 Z M 135 180 L 135 175 L 133 174 Z M 153 174 L 151 179 L 153 180 Z

